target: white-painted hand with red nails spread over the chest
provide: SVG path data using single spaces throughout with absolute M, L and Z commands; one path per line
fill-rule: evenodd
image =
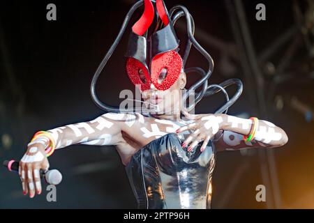
M 185 125 L 177 130 L 177 133 L 186 130 L 195 130 L 191 133 L 188 138 L 182 144 L 182 148 L 188 146 L 188 152 L 192 151 L 193 148 L 204 141 L 200 151 L 203 152 L 206 148 L 210 139 L 212 139 L 215 134 L 222 128 L 223 118 L 220 115 L 215 114 L 196 114 L 192 115 L 188 112 L 183 112 L 186 118 L 194 120 L 195 122 Z

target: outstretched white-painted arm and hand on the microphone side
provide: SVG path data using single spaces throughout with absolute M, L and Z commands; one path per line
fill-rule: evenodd
M 130 127 L 135 115 L 107 113 L 98 118 L 59 128 L 48 130 L 56 144 L 56 149 L 64 148 L 73 144 L 89 145 L 117 145 L 123 140 L 121 129 Z M 45 148 L 50 141 L 46 137 L 38 137 L 27 146 L 27 152 L 20 161 L 19 174 L 22 180 L 23 194 L 29 192 L 29 197 L 41 193 L 40 169 L 47 170 L 49 162 Z

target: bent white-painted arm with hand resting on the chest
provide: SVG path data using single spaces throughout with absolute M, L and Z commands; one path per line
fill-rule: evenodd
M 287 143 L 287 134 L 281 128 L 268 121 L 258 121 L 258 128 L 253 141 L 246 142 L 244 135 L 251 132 L 253 121 L 226 114 L 186 114 L 187 118 L 195 120 L 190 125 L 179 128 L 177 132 L 195 129 L 182 144 L 192 150 L 200 141 L 204 140 L 201 151 L 210 139 L 214 139 L 217 151 L 237 150 L 241 148 L 277 147 Z

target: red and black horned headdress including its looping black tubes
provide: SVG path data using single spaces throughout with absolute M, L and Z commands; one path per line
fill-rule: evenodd
M 112 47 L 105 55 L 103 61 L 98 66 L 94 77 L 91 82 L 91 96 L 101 109 L 107 112 L 140 112 L 141 108 L 137 109 L 124 109 L 119 107 L 112 107 L 98 100 L 96 95 L 96 82 L 103 70 L 108 59 L 114 52 L 121 37 L 126 30 L 130 17 L 137 8 L 140 8 L 144 3 L 144 12 L 137 22 L 132 26 L 128 40 L 128 49 L 126 51 L 126 72 L 131 82 L 140 86 L 141 91 L 150 89 L 151 84 L 154 84 L 156 89 L 165 91 L 169 89 L 174 82 L 177 81 L 180 73 L 184 72 L 197 72 L 202 77 L 195 82 L 190 89 L 184 93 L 183 100 L 185 101 L 191 93 L 195 93 L 195 90 L 202 86 L 202 91 L 195 93 L 195 102 L 193 105 L 189 105 L 186 108 L 190 111 L 195 107 L 197 102 L 202 100 L 204 96 L 213 95 L 219 91 L 225 93 L 227 103 L 220 107 L 216 113 L 227 112 L 227 108 L 230 107 L 241 95 L 242 84 L 239 79 L 229 79 L 221 84 L 212 84 L 207 86 L 207 79 L 211 76 L 211 72 L 214 69 L 214 61 L 211 59 L 209 53 L 203 49 L 203 47 L 197 43 L 194 38 L 194 21 L 193 17 L 188 12 L 187 8 L 181 5 L 174 6 L 168 13 L 167 8 L 163 0 L 140 0 L 137 1 L 128 11 L 124 23 L 121 26 L 119 34 L 114 40 Z M 185 46 L 184 55 L 179 54 L 179 40 L 174 30 L 174 24 L 180 17 L 186 17 L 188 41 Z M 149 28 L 154 22 L 156 17 L 156 27 L 154 31 L 148 36 Z M 205 72 L 202 68 L 185 68 L 186 60 L 190 52 L 190 47 L 193 45 L 209 62 L 209 68 Z M 161 72 L 167 72 L 165 79 L 162 82 L 158 82 L 158 77 Z M 237 84 L 237 93 L 229 100 L 225 87 L 231 84 Z

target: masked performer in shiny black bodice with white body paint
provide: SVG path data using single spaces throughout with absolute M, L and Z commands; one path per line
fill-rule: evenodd
M 142 95 L 144 112 L 142 106 L 125 109 L 106 105 L 95 91 L 101 70 L 117 47 L 130 17 L 143 3 L 144 13 L 130 32 L 126 71 Z M 182 56 L 174 31 L 180 17 L 186 17 L 188 30 Z M 155 29 L 149 33 L 154 19 Z M 23 193 L 29 197 L 40 194 L 40 169 L 49 168 L 47 157 L 54 150 L 73 144 L 114 145 L 126 167 L 138 208 L 210 208 L 217 152 L 286 144 L 284 130 L 273 123 L 226 114 L 241 95 L 241 81 L 229 79 L 207 86 L 214 63 L 193 33 L 193 17 L 184 6 L 174 6 L 168 13 L 162 0 L 135 3 L 91 83 L 94 102 L 107 113 L 91 121 L 37 132 L 20 161 Z M 207 72 L 185 68 L 192 45 L 209 61 Z M 184 91 L 190 72 L 202 77 Z M 237 84 L 238 89 L 229 99 L 225 87 L 231 84 Z M 195 92 L 198 88 L 202 91 Z M 218 92 L 225 94 L 227 102 L 215 114 L 189 113 L 204 96 Z M 186 99 L 193 93 L 195 101 L 186 106 Z

